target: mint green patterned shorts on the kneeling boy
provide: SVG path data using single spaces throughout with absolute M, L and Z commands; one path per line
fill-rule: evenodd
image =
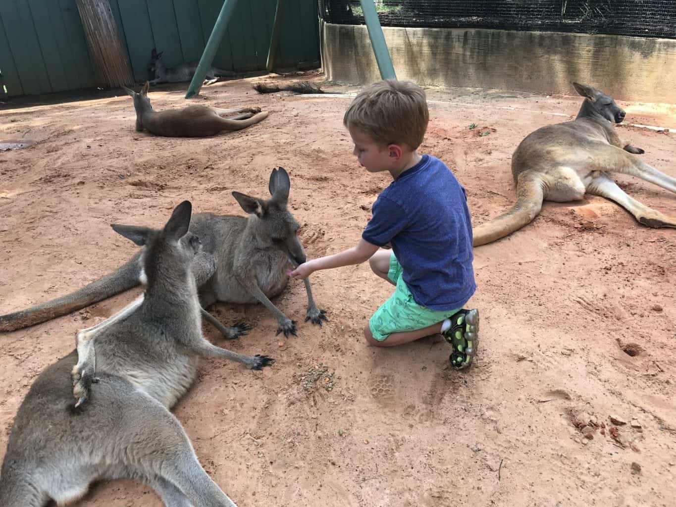
M 397 288 L 368 321 L 368 329 L 378 341 L 385 341 L 392 333 L 416 331 L 431 326 L 453 316 L 460 310 L 457 308 L 456 310 L 436 311 L 417 304 L 406 287 L 403 273 L 402 265 L 392 252 L 387 278 L 393 281 Z

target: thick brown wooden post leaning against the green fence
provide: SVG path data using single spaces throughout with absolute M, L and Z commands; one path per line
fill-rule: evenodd
M 109 1 L 76 0 L 76 3 L 101 84 L 108 87 L 134 84 Z

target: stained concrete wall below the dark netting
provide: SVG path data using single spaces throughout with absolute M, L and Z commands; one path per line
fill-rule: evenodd
M 616 99 L 676 103 L 676 40 L 560 32 L 383 27 L 397 78 L 418 84 L 575 95 L 571 81 Z M 380 79 L 366 26 L 325 23 L 330 80 Z

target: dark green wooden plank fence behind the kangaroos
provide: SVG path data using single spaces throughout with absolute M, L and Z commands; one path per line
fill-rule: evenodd
M 138 81 L 153 48 L 171 67 L 199 59 L 223 0 L 110 0 Z M 214 66 L 264 70 L 276 0 L 238 0 Z M 316 0 L 286 3 L 278 66 L 319 61 Z M 94 87 L 96 71 L 75 0 L 0 0 L 0 96 Z

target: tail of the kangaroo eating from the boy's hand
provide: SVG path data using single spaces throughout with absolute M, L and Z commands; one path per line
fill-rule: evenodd
M 140 258 L 141 252 L 137 253 L 114 272 L 106 274 L 89 285 L 85 285 L 82 289 L 78 289 L 68 295 L 32 306 L 27 310 L 0 315 L 0 332 L 16 331 L 17 329 L 45 322 L 45 320 L 69 314 L 139 285 L 139 277 L 141 275 Z

